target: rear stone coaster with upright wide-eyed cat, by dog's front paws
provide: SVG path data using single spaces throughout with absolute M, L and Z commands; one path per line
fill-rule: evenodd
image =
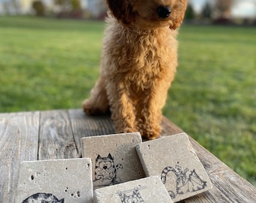
M 136 146 L 139 132 L 81 138 L 82 156 L 92 159 L 93 187 L 145 177 Z

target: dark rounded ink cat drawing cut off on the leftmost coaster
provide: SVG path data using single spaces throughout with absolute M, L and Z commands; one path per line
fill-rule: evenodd
M 64 203 L 64 198 L 58 200 L 50 193 L 36 193 L 23 200 L 23 203 Z

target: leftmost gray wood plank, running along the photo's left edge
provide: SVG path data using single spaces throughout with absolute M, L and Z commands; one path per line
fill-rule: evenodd
M 15 202 L 20 162 L 37 159 L 39 114 L 0 114 L 0 202 Z

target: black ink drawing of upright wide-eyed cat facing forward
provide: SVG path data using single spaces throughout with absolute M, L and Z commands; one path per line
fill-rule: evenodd
M 121 164 L 114 164 L 114 158 L 109 153 L 107 157 L 97 156 L 95 162 L 95 179 L 94 183 L 100 186 L 109 186 L 120 183 L 117 177 L 117 170 L 123 168 Z

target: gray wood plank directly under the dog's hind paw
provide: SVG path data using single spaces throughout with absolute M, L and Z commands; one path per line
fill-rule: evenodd
M 88 117 L 81 109 L 69 110 L 72 131 L 78 149 L 81 148 L 81 138 L 114 133 L 113 123 L 108 116 Z

